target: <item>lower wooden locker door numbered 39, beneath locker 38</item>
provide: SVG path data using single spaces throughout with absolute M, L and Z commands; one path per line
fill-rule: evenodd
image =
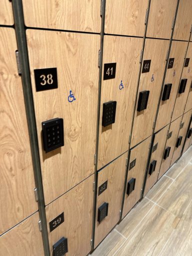
M 94 174 L 45 206 L 51 255 L 62 237 L 67 238 L 67 256 L 85 256 L 90 251 L 93 181 Z

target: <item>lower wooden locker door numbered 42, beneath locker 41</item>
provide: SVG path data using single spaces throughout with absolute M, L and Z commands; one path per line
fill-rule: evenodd
M 97 199 L 94 247 L 110 232 L 120 218 L 127 152 L 101 169 L 97 174 Z M 108 203 L 108 212 L 102 220 L 100 209 Z M 106 212 L 105 212 L 106 213 Z

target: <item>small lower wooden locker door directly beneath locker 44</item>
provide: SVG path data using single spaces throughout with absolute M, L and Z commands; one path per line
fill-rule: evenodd
M 140 144 L 130 149 L 130 159 L 128 165 L 128 176 L 126 180 L 122 217 L 127 214 L 127 212 L 141 197 L 150 141 L 151 137 L 145 139 Z M 134 189 L 132 190 L 131 187 L 133 179 L 135 183 Z

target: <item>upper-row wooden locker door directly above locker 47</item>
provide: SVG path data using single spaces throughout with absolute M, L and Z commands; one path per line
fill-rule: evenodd
M 176 22 L 174 26 L 173 39 L 188 41 L 192 24 L 192 1 L 179 0 Z

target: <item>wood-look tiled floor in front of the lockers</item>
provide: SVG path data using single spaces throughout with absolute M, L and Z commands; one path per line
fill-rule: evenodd
M 192 255 L 192 146 L 91 256 Z

